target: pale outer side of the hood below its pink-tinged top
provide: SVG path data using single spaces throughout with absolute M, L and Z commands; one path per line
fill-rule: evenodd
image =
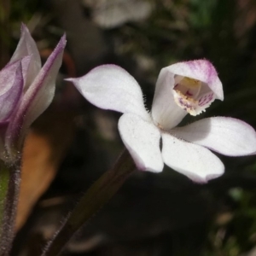
M 174 100 L 174 73 L 162 68 L 157 79 L 152 104 L 152 117 L 155 125 L 170 130 L 180 123 L 187 111 L 180 108 Z

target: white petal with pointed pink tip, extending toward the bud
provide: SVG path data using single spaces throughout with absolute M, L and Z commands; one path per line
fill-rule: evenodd
M 72 81 L 86 100 L 98 108 L 136 113 L 143 119 L 150 119 L 139 84 L 121 67 L 102 65 L 79 79 L 67 80 Z

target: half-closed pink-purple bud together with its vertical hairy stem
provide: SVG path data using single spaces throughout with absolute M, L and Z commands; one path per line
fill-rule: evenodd
M 42 67 L 37 45 L 22 25 L 15 53 L 0 71 L 0 255 L 9 255 L 14 237 L 26 132 L 52 102 L 65 45 L 63 36 Z

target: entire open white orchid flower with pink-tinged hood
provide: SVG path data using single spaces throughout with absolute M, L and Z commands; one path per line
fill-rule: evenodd
M 215 99 L 224 99 L 209 61 L 164 67 L 150 113 L 139 84 L 121 67 L 103 65 L 69 80 L 98 108 L 124 113 L 119 119 L 120 137 L 139 170 L 161 172 L 165 163 L 195 182 L 206 183 L 224 173 L 223 163 L 209 149 L 230 156 L 256 152 L 256 132 L 239 119 L 214 117 L 177 127 L 187 113 L 199 114 Z

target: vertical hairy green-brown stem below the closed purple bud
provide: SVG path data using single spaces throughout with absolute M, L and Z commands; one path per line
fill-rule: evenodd
M 8 256 L 15 236 L 15 218 L 20 189 L 20 161 L 0 163 L 0 255 Z

